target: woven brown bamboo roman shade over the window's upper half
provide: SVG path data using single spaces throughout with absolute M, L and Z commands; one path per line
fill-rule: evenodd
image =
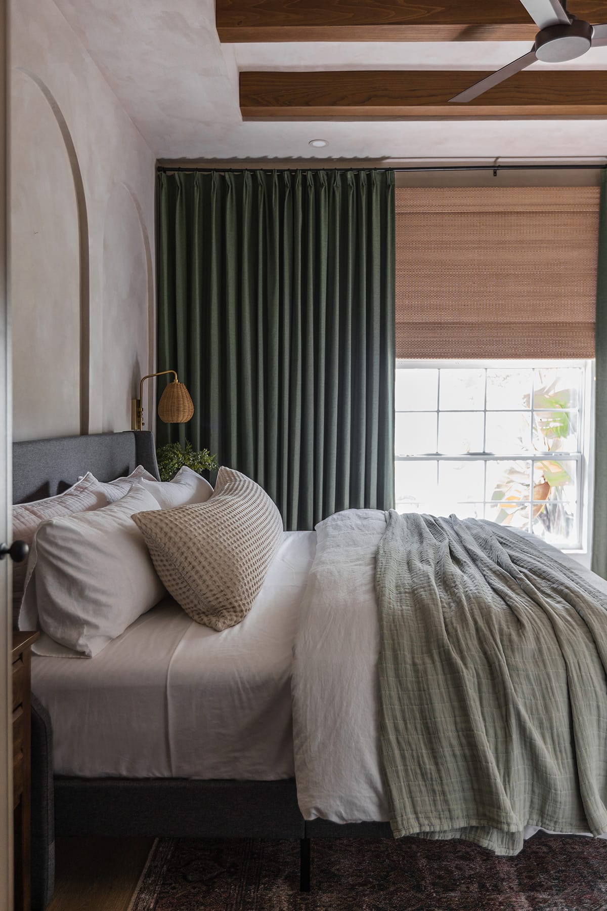
M 398 358 L 594 356 L 598 187 L 396 189 Z

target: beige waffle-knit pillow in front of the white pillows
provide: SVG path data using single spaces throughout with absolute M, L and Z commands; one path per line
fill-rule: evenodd
M 282 537 L 268 494 L 231 468 L 219 468 L 205 503 L 137 513 L 133 520 L 166 589 L 213 630 L 247 616 Z

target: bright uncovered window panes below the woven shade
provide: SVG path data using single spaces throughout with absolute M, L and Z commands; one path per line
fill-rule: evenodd
M 593 361 L 400 361 L 396 507 L 588 545 Z

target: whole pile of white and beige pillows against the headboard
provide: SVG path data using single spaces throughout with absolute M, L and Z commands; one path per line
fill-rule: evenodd
M 219 468 L 215 490 L 190 468 L 157 481 L 139 466 L 108 484 L 91 474 L 64 494 L 13 507 L 30 545 L 14 575 L 20 630 L 38 654 L 93 658 L 167 592 L 214 630 L 244 619 L 282 538 L 278 508 L 254 481 Z

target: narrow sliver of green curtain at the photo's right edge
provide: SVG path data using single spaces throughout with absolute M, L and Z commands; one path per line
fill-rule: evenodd
M 594 509 L 592 569 L 607 578 L 607 172 L 601 171 L 599 262 L 596 276 Z

